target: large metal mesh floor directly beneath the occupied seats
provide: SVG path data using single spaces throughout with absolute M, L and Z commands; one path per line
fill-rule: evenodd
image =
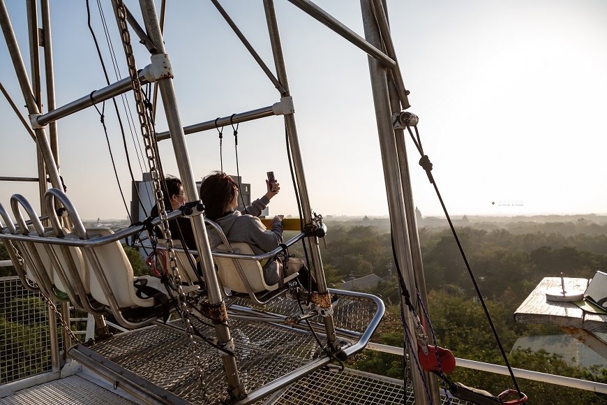
M 174 321 L 174 324 L 180 325 L 181 321 Z M 202 334 L 214 334 L 207 325 L 195 322 L 195 326 Z M 237 347 L 241 381 L 248 392 L 324 357 L 311 334 L 288 327 L 231 319 L 230 332 Z M 209 397 L 225 397 L 225 374 L 219 353 L 202 343 L 199 348 Z M 153 327 L 122 336 L 119 334 L 90 349 L 187 401 L 204 403 L 194 378 L 188 339 L 184 334 Z

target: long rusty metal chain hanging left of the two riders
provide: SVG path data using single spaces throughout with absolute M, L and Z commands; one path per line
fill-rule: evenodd
M 175 290 L 177 290 L 177 305 L 179 307 L 179 313 L 183 324 L 186 326 L 186 332 L 190 343 L 188 349 L 192 355 L 192 363 L 194 366 L 195 376 L 198 381 L 202 397 L 207 404 L 209 403 L 209 396 L 207 395 L 207 387 L 202 381 L 202 367 L 200 364 L 200 357 L 196 354 L 197 342 L 194 340 L 194 328 L 190 319 L 190 311 L 186 302 L 186 294 L 183 293 L 181 287 L 181 277 L 179 275 L 179 269 L 177 269 L 177 258 L 174 251 L 173 240 L 171 237 L 171 231 L 169 229 L 169 221 L 167 219 L 167 211 L 165 209 L 163 191 L 160 186 L 160 168 L 158 167 L 158 149 L 156 147 L 156 137 L 152 135 L 151 125 L 145 110 L 145 103 L 143 97 L 143 91 L 141 83 L 139 81 L 139 74 L 137 73 L 137 65 L 135 64 L 135 56 L 133 55 L 133 47 L 130 45 L 130 34 L 128 33 L 128 27 L 126 24 L 126 8 L 122 0 L 116 1 L 116 11 L 118 15 L 118 24 L 120 30 L 120 38 L 122 45 L 124 46 L 124 52 L 126 54 L 126 63 L 128 64 L 128 73 L 130 75 L 131 84 L 133 85 L 133 94 L 135 94 L 135 103 L 137 106 L 137 117 L 141 126 L 142 136 L 145 143 L 145 152 L 147 155 L 150 175 L 153 180 L 154 197 L 156 198 L 156 205 L 158 205 L 158 217 L 160 218 L 161 228 L 163 235 L 167 240 L 167 253 L 169 255 L 169 263 L 171 269 L 171 283 Z

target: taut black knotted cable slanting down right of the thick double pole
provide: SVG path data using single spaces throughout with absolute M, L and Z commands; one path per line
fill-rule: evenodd
M 417 131 L 417 125 L 413 127 L 415 129 L 415 133 L 417 134 L 417 140 L 419 140 L 419 131 Z M 520 392 L 520 388 L 518 388 L 518 383 L 516 382 L 516 377 L 514 376 L 514 372 L 512 371 L 512 367 L 510 367 L 510 362 L 508 361 L 506 352 L 504 351 L 504 346 L 502 346 L 502 341 L 500 337 L 497 335 L 497 330 L 495 330 L 495 325 L 493 325 L 493 321 L 491 320 L 491 316 L 489 315 L 489 310 L 487 309 L 487 305 L 485 304 L 485 300 L 483 295 L 481 294 L 481 289 L 479 288 L 479 284 L 477 283 L 477 279 L 474 277 L 474 273 L 472 273 L 472 269 L 470 268 L 470 263 L 468 263 L 468 259 L 466 257 L 466 253 L 462 247 L 458 234 L 453 226 L 453 222 L 451 222 L 451 217 L 449 216 L 449 212 L 447 212 L 447 207 L 445 207 L 442 197 L 440 196 L 440 191 L 438 191 L 438 186 L 436 185 L 435 179 L 430 172 L 432 170 L 432 163 L 430 163 L 430 159 L 428 159 L 428 155 L 424 154 L 424 150 L 421 149 L 421 142 L 418 142 L 411 131 L 411 128 L 407 125 L 407 130 L 409 131 L 411 138 L 417 147 L 417 150 L 421 154 L 421 159 L 419 159 L 419 165 L 421 165 L 424 170 L 426 170 L 426 175 L 428 175 L 428 180 L 433 184 L 434 190 L 436 191 L 436 195 L 438 196 L 438 200 L 440 201 L 440 205 L 444 212 L 444 215 L 447 216 L 447 222 L 449 222 L 449 228 L 451 228 L 451 233 L 453 233 L 458 248 L 460 249 L 460 253 L 462 258 L 464 259 L 464 263 L 466 265 L 466 269 L 468 270 L 468 274 L 470 274 L 470 278 L 472 279 L 472 283 L 474 284 L 474 289 L 477 290 L 477 295 L 479 296 L 479 300 L 481 301 L 481 305 L 483 306 L 483 310 L 485 311 L 485 315 L 487 316 L 487 320 L 489 321 L 489 325 L 491 330 L 493 331 L 493 336 L 495 336 L 495 341 L 497 341 L 497 346 L 500 347 L 500 351 L 502 352 L 502 357 L 504 358 L 504 362 L 506 362 L 506 366 L 508 367 L 508 372 L 514 382 L 514 386 L 520 398 L 523 398 L 523 393 Z

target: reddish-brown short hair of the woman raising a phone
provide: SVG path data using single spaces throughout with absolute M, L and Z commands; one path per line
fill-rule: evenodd
M 204 214 L 211 221 L 221 218 L 225 206 L 234 200 L 238 184 L 224 172 L 212 172 L 202 179 L 200 184 L 200 200 L 204 204 Z

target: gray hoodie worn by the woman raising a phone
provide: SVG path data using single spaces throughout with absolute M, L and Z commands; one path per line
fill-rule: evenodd
M 270 200 L 266 196 L 259 198 L 242 212 L 234 211 L 217 219 L 216 223 L 221 227 L 229 242 L 245 242 L 250 244 L 255 254 L 273 251 L 279 244 L 283 243 L 283 224 L 276 220 L 272 221 L 271 230 L 267 230 L 258 218 L 262 214 Z M 246 213 L 245 213 L 246 212 Z M 222 240 L 215 228 L 207 226 L 209 243 L 211 249 L 222 244 Z M 268 285 L 278 282 L 278 265 L 272 262 L 264 269 L 264 279 Z

